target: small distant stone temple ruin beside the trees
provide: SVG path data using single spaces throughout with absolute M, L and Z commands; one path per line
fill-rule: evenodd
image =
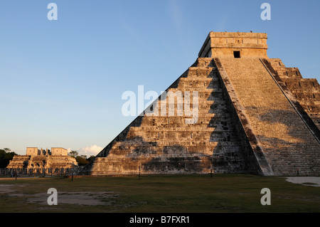
M 75 158 L 68 156 L 68 150 L 62 147 L 38 149 L 27 147 L 26 155 L 15 155 L 6 169 L 28 174 L 60 174 L 78 167 Z

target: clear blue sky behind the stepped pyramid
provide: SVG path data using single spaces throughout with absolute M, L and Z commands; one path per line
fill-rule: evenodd
M 264 2 L 270 21 L 260 19 Z M 270 58 L 320 80 L 319 9 L 317 0 L 2 0 L 0 148 L 97 153 L 134 120 L 122 115 L 122 93 L 144 85 L 160 94 L 210 31 L 267 33 Z

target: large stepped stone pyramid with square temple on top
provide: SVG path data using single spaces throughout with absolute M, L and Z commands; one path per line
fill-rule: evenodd
M 80 174 L 319 176 L 319 128 L 319 83 L 268 58 L 266 33 L 211 31 L 195 63 Z

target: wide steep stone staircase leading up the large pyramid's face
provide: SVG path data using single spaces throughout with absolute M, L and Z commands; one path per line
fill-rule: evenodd
M 317 175 L 320 144 L 260 58 L 217 58 L 274 175 Z M 281 63 L 280 65 L 281 66 Z

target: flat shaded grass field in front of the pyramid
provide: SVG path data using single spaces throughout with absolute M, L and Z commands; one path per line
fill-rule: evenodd
M 49 206 L 49 188 L 58 205 Z M 262 188 L 271 205 L 262 206 Z M 0 212 L 319 212 L 320 188 L 247 174 L 1 179 Z

